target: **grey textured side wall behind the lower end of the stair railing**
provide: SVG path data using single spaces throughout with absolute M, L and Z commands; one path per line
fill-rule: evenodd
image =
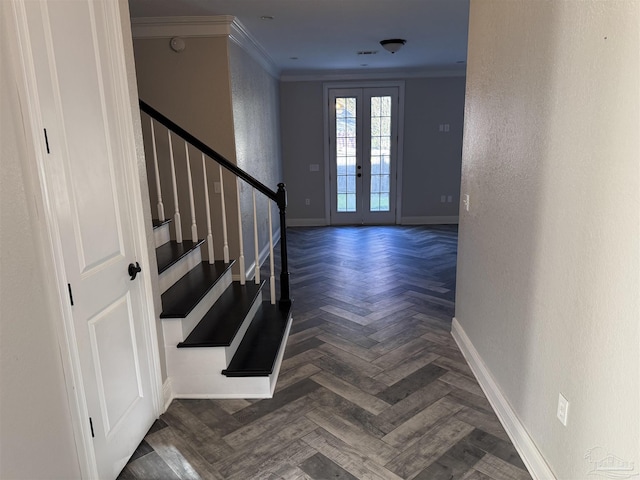
M 279 82 L 233 42 L 229 43 L 231 98 L 238 166 L 270 189 L 284 181 L 280 148 Z M 269 242 L 267 200 L 257 194 L 258 247 Z M 243 234 L 247 265 L 255 260 L 251 188 L 242 190 Z M 279 228 L 278 210 L 273 209 L 273 228 Z

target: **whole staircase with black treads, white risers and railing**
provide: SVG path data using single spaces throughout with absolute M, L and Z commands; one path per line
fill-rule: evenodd
M 291 300 L 289 299 L 289 274 L 286 255 L 286 192 L 280 184 L 274 192 L 237 166 L 226 161 L 210 147 L 192 137 L 169 119 L 150 106 L 140 102 L 141 110 L 148 115 L 153 142 L 153 160 L 155 171 L 159 172 L 159 162 L 163 154 L 156 149 L 156 130 L 166 128 L 169 148 L 167 160 L 171 163 L 174 216 L 164 218 L 162 199 L 162 181 L 156 173 L 156 191 L 158 197 L 158 219 L 154 219 L 154 240 L 158 263 L 158 279 L 161 290 L 162 313 L 160 315 L 164 338 L 167 377 L 173 398 L 269 398 L 273 395 L 275 384 L 284 355 L 284 348 L 292 322 Z M 144 116 L 143 116 L 144 120 Z M 174 158 L 173 143 L 176 137 L 185 145 L 185 158 L 189 183 L 189 204 L 192 218 L 191 239 L 183 239 L 183 226 L 179 209 L 179 195 Z M 201 154 L 205 182 L 204 198 L 196 200 L 190 166 L 190 149 Z M 149 158 L 149 154 L 147 155 Z M 218 165 L 215 165 L 216 162 Z M 222 168 L 230 170 L 253 190 L 253 227 L 255 259 L 252 265 L 253 278 L 247 280 L 243 248 L 243 224 L 240 212 L 240 180 L 237 180 L 238 234 L 240 238 L 239 261 L 229 259 L 227 245 L 227 213 L 222 192 L 224 231 L 223 259 L 214 258 L 212 236 L 211 204 L 206 182 L 207 166 L 215 165 L 219 170 L 219 180 L 223 184 Z M 240 173 L 237 171 L 240 170 Z M 209 166 L 211 171 L 211 166 Z M 275 253 L 273 250 L 273 228 L 271 225 L 271 207 L 268 208 L 269 226 L 269 282 L 260 280 L 261 255 L 258 235 L 258 214 L 256 193 L 262 193 L 269 201 L 277 202 L 280 209 L 280 288 L 281 298 L 275 301 Z M 233 199 L 232 199 L 233 200 Z M 202 205 L 204 203 L 204 205 Z M 198 238 L 195 223 L 196 205 L 207 212 L 207 234 Z M 203 248 L 206 250 L 203 254 Z M 204 257 L 206 259 L 203 259 Z M 236 269 L 234 274 L 232 273 Z M 251 281 L 253 280 L 253 281 Z M 263 299 L 264 297 L 264 299 Z

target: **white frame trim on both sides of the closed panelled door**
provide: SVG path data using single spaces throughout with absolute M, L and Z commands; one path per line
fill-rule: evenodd
M 11 19 L 6 23 L 9 25 L 9 38 L 12 42 L 11 51 L 16 52 L 13 56 L 14 72 L 16 73 L 16 85 L 20 97 L 21 113 L 24 119 L 23 127 L 27 136 L 27 147 L 31 150 L 32 160 L 25 168 L 25 172 L 30 177 L 27 180 L 32 182 L 37 188 L 38 207 L 42 208 L 42 221 L 38 223 L 40 235 L 48 246 L 51 263 L 48 277 L 54 282 L 54 289 L 57 293 L 56 308 L 60 315 L 52 315 L 56 320 L 55 329 L 60 347 L 62 368 L 65 377 L 65 387 L 69 408 L 72 418 L 73 433 L 75 436 L 78 463 L 83 478 L 96 478 L 98 471 L 93 450 L 91 427 L 89 425 L 89 412 L 86 404 L 86 396 L 83 390 L 83 379 L 80 368 L 78 349 L 75 341 L 75 331 L 73 324 L 73 314 L 69 302 L 69 292 L 66 285 L 66 273 L 64 257 L 62 254 L 62 238 L 57 224 L 54 197 L 50 192 L 51 181 L 49 176 L 51 171 L 48 168 L 45 152 L 46 144 L 43 132 L 43 121 L 40 112 L 38 90 L 36 85 L 33 56 L 31 53 L 29 25 L 25 11 L 25 1 L 10 0 L 11 6 L 8 10 Z M 117 88 L 116 103 L 118 109 L 118 121 L 113 125 L 121 138 L 124 139 L 123 151 L 128 158 L 125 159 L 127 175 L 127 190 L 132 201 L 130 204 L 130 214 L 133 219 L 133 238 L 135 242 L 135 255 L 143 265 L 150 265 L 149 251 L 147 248 L 147 236 L 145 231 L 144 211 L 142 207 L 142 190 L 140 187 L 140 172 L 137 165 L 137 154 L 135 138 L 141 138 L 141 132 L 135 134 L 134 125 L 140 129 L 140 123 L 134 122 L 132 111 L 132 97 L 137 100 L 137 92 L 130 92 L 128 75 L 125 61 L 125 46 L 122 38 L 122 24 L 120 11 L 121 2 L 105 1 L 105 31 L 109 33 L 105 40 L 110 45 L 113 52 L 110 64 L 110 74 L 113 76 L 114 84 Z M 160 375 L 160 355 L 158 350 L 158 337 L 156 332 L 155 308 L 151 289 L 151 275 L 149 269 L 143 269 L 139 275 L 139 281 L 144 312 L 144 342 L 147 346 L 151 369 L 151 396 L 155 414 L 162 413 L 163 395 L 162 381 Z M 60 320 L 58 320 L 60 319 Z

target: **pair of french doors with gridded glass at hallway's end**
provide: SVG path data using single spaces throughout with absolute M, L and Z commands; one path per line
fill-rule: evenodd
M 396 221 L 398 87 L 329 90 L 331 224 Z

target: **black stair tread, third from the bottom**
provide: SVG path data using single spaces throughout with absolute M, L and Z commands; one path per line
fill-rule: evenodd
M 184 318 L 213 288 L 234 261 L 202 262 L 162 294 L 160 318 Z

